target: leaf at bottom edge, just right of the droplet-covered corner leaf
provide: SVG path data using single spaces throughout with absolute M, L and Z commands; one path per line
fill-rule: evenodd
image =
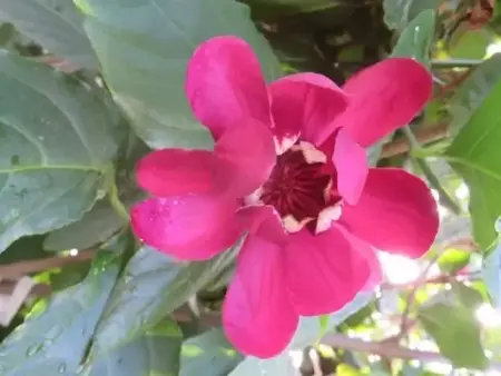
M 181 343 L 183 336 L 177 324 L 165 319 L 136 340 L 88 366 L 84 375 L 175 376 L 179 372 Z M 203 370 L 207 372 L 207 368 Z

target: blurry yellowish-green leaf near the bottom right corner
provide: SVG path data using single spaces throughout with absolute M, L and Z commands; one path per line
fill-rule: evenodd
M 488 366 L 474 307 L 463 305 L 454 291 L 443 291 L 421 306 L 418 319 L 455 367 L 484 369 Z

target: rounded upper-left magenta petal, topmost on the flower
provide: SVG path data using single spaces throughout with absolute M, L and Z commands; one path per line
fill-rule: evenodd
M 195 50 L 188 62 L 186 93 L 196 117 L 215 139 L 248 117 L 271 126 L 259 61 L 239 38 L 216 37 Z

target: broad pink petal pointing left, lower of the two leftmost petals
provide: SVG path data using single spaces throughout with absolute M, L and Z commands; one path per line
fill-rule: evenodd
M 132 230 L 147 245 L 183 260 L 205 260 L 242 235 L 236 200 L 207 196 L 151 198 L 131 210 Z

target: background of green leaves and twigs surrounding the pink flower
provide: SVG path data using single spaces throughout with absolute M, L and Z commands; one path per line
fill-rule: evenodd
M 37 283 L 0 328 L 0 375 L 501 373 L 498 2 L 0 0 L 0 278 Z M 342 85 L 406 56 L 435 82 L 423 113 L 370 152 L 429 181 L 435 245 L 416 263 L 383 255 L 376 294 L 303 319 L 268 360 L 220 328 L 237 245 L 178 264 L 128 229 L 138 158 L 212 148 L 183 86 L 194 48 L 217 34 L 250 42 L 268 80 L 315 71 Z

